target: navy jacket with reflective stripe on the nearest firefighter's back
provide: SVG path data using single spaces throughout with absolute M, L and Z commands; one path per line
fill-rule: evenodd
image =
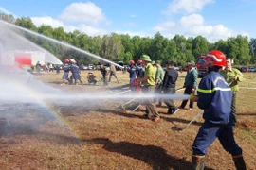
M 204 110 L 203 118 L 212 124 L 226 125 L 231 119 L 232 91 L 219 72 L 211 71 L 200 81 L 197 106 Z

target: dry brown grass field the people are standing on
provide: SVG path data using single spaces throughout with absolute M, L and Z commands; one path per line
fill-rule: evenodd
M 100 76 L 99 71 L 95 73 Z M 87 71 L 82 71 L 82 77 L 86 75 Z M 128 74 L 118 72 L 121 83 L 114 78 L 107 88 L 101 86 L 102 82 L 97 86 L 60 86 L 61 76 L 35 77 L 69 92 L 109 91 L 129 81 Z M 256 74 L 246 76 L 247 81 L 240 86 L 255 87 Z M 177 88 L 183 82 L 184 78 L 179 78 Z M 247 169 L 251 170 L 256 169 L 254 93 L 256 90 L 241 89 L 238 94 L 239 128 L 235 134 L 244 149 Z M 115 107 L 119 103 L 108 101 L 101 107 L 89 103 L 89 108 L 49 104 L 52 112 L 27 110 L 17 114 L 10 126 L 1 128 L 0 169 L 190 169 L 192 142 L 203 119 L 198 118 L 182 131 L 173 131 L 171 127 L 189 123 L 199 111 L 197 107 L 192 111 L 179 110 L 172 116 L 166 114 L 166 107 L 158 108 L 161 122 L 154 123 L 142 118 L 143 106 L 135 112 L 122 113 Z M 218 141 L 208 152 L 206 169 L 234 169 L 230 155 Z

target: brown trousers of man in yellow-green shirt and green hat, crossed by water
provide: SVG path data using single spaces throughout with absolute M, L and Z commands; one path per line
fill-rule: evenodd
M 143 86 L 142 92 L 145 94 L 154 94 L 155 86 Z M 143 104 L 146 107 L 146 114 L 149 118 L 159 117 L 159 114 L 155 107 L 154 98 L 145 98 Z

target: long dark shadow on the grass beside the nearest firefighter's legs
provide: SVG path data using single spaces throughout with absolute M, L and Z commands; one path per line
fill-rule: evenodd
M 142 145 L 129 142 L 114 143 L 107 138 L 94 138 L 86 142 L 103 144 L 103 149 L 109 152 L 116 152 L 140 161 L 144 161 L 152 166 L 154 170 L 187 170 L 192 169 L 192 163 L 183 159 L 178 159 L 166 153 L 166 150 L 155 145 Z M 84 142 L 85 142 L 84 141 Z M 211 170 L 205 168 L 205 170 Z

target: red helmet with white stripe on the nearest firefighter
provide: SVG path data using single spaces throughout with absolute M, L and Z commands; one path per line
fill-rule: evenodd
M 207 61 L 208 65 L 210 65 L 210 66 L 219 66 L 219 67 L 226 66 L 226 57 L 219 50 L 211 50 L 206 55 L 205 60 Z

